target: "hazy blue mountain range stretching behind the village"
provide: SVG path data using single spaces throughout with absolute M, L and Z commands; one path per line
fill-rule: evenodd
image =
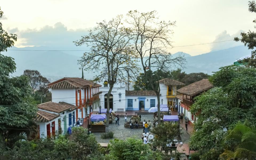
M 17 51 L 30 50 L 30 51 Z M 31 51 L 33 50 L 33 51 Z M 16 72 L 13 76 L 23 74 L 25 69 L 38 70 L 50 82 L 63 77 L 81 77 L 78 59 L 84 51 L 38 51 L 50 50 L 48 47 L 12 47 L 7 52 L 1 54 L 13 57 L 16 63 Z M 70 54 L 72 52 L 72 54 Z M 75 52 L 75 53 L 74 53 Z M 182 55 L 186 58 L 186 73 L 203 72 L 212 74 L 222 66 L 233 64 L 233 62 L 251 53 L 245 46 L 232 47 L 225 50 L 213 51 L 205 54 L 191 56 L 187 53 L 177 52 L 173 57 Z M 175 68 L 174 68 L 175 69 Z M 86 79 L 92 79 L 95 73 L 84 72 Z

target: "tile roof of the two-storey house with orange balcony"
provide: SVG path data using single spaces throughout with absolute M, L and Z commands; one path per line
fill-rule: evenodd
M 64 77 L 62 79 L 59 79 L 58 81 L 52 82 L 48 85 L 48 88 L 85 88 L 85 87 L 101 87 L 100 84 L 88 81 L 86 79 L 82 78 L 67 78 Z

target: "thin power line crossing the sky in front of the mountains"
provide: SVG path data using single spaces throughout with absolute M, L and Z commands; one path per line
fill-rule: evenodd
M 226 41 L 210 42 L 210 43 L 200 43 L 200 44 L 195 44 L 195 45 L 159 47 L 159 48 L 188 47 L 188 46 L 206 45 L 206 44 L 220 43 L 220 42 L 227 42 L 227 41 L 234 41 L 234 39 L 230 39 L 230 40 L 226 40 Z M 143 48 L 143 49 L 149 49 L 149 48 Z M 26 50 L 8 49 L 8 50 L 11 50 L 11 51 L 92 51 L 92 50 L 28 50 L 28 49 L 26 49 Z

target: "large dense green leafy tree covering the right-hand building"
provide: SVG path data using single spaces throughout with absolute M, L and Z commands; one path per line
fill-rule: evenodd
M 192 113 L 201 113 L 194 123 L 190 147 L 200 150 L 201 159 L 218 159 L 224 151 L 223 128 L 232 129 L 245 119 L 256 123 L 256 69 L 226 66 L 209 80 L 215 87 L 197 96 L 191 106 Z

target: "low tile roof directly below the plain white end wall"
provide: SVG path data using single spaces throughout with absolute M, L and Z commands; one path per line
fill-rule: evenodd
M 37 105 L 38 109 L 46 110 L 46 111 L 51 111 L 55 113 L 61 113 L 66 110 L 74 110 L 76 106 L 71 105 L 69 103 L 54 103 L 54 102 L 46 102 L 42 103 L 40 105 Z

